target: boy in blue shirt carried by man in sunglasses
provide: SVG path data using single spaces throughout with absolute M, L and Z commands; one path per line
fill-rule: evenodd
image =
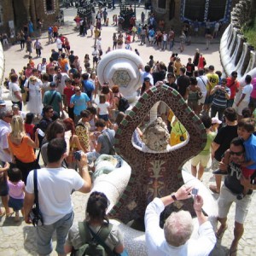
M 237 124 L 237 134 L 244 141 L 246 160 L 241 164 L 243 177 L 249 178 L 256 169 L 256 137 L 253 135 L 255 119 L 241 119 Z M 247 195 L 247 191 L 243 191 Z

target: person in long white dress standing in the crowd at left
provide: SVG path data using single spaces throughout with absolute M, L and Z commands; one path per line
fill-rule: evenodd
M 24 89 L 29 92 L 26 110 L 38 116 L 42 113 L 43 109 L 42 87 L 42 81 L 35 76 L 31 76 L 28 82 L 24 84 Z

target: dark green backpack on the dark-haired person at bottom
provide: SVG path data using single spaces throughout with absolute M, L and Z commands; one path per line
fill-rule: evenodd
M 97 232 L 96 236 L 101 241 L 105 241 L 110 231 L 112 230 L 112 227 L 113 227 L 112 224 L 103 224 L 102 228 Z M 106 250 L 102 246 L 102 244 L 100 244 L 99 240 L 96 239 L 91 234 L 90 227 L 87 222 L 79 222 L 79 236 L 81 238 L 81 241 L 83 241 L 84 244 L 81 247 L 79 247 L 78 250 L 73 250 L 73 253 L 71 253 L 72 256 L 82 256 L 82 255 L 107 256 L 108 255 L 107 250 L 110 250 L 110 248 L 108 247 L 108 249 Z

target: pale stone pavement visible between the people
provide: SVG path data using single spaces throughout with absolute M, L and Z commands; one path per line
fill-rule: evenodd
M 142 8 L 137 9 L 137 17 L 140 17 L 140 12 Z M 108 15 L 110 24 L 112 23 L 112 15 L 117 13 L 118 9 L 115 11 L 108 9 Z M 68 34 L 69 41 L 71 43 L 71 48 L 74 50 L 75 55 L 79 55 L 79 59 L 81 61 L 81 65 L 83 66 L 83 59 L 85 53 L 91 54 L 93 39 L 90 37 L 80 37 L 78 32 L 74 32 L 74 21 L 73 17 L 75 15 L 75 9 L 65 9 L 65 26 L 61 27 L 61 32 L 64 34 Z M 139 19 L 138 19 L 139 20 Z M 102 29 L 102 44 L 103 44 L 103 52 L 107 50 L 108 46 L 112 46 L 112 35 L 115 32 L 115 27 L 108 26 Z M 55 44 L 47 44 L 47 40 L 45 39 L 46 33 L 44 32 L 42 35 L 42 43 L 44 45 L 42 57 L 49 58 L 50 49 L 55 49 Z M 192 38 L 193 39 L 193 38 Z M 193 56 L 195 52 L 195 48 L 201 49 L 207 59 L 207 65 L 213 64 L 216 69 L 222 70 L 219 55 L 218 55 L 218 44 L 212 44 L 210 49 L 204 50 L 205 48 L 205 40 L 204 38 L 195 38 L 197 43 L 186 46 L 185 51 L 181 56 L 182 62 L 185 64 L 188 60 L 189 56 Z M 194 41 L 194 42 L 195 42 Z M 193 41 L 192 41 L 193 42 Z M 214 43 L 217 43 L 215 41 Z M 168 63 L 169 58 L 172 54 L 171 51 L 161 51 L 159 49 L 154 49 L 148 46 L 141 46 L 138 42 L 131 44 L 132 49 L 137 48 L 140 52 L 144 63 L 148 61 L 149 55 L 154 55 L 154 60 L 164 61 Z M 175 45 L 174 51 L 177 51 L 177 44 Z M 35 52 L 32 53 L 35 56 Z M 21 67 L 26 65 L 27 55 L 24 51 L 20 50 L 19 45 L 14 45 L 10 49 L 5 51 L 6 56 L 6 73 L 8 76 L 10 68 L 14 67 L 16 71 L 20 71 Z M 34 58 L 36 65 L 39 63 L 40 59 Z M 189 170 L 189 162 L 186 164 L 187 169 Z M 209 183 L 212 183 L 213 177 L 211 172 L 206 172 L 203 176 L 203 183 L 207 186 Z M 78 221 L 84 218 L 84 194 L 79 192 L 75 192 L 72 195 L 73 204 L 74 204 L 74 212 L 75 218 L 74 221 Z M 216 196 L 216 195 L 213 195 Z M 217 197 L 216 197 L 217 199 Z M 241 238 L 238 253 L 239 256 L 250 256 L 256 255 L 256 247 L 254 246 L 253 238 L 255 235 L 254 232 L 256 230 L 256 223 L 254 223 L 253 215 L 254 210 L 256 209 L 256 201 L 255 197 L 253 198 L 250 210 L 247 215 L 247 221 L 245 223 L 245 232 Z M 233 239 L 233 228 L 234 228 L 234 207 L 231 207 L 230 214 L 228 216 L 228 224 L 229 228 L 224 233 L 222 241 L 218 241 L 216 247 L 212 251 L 212 256 L 224 256 L 228 255 L 228 249 L 230 247 L 230 243 Z M 55 247 L 55 240 L 54 240 Z M 255 254 L 254 254 L 255 253 Z M 0 219 L 0 255 L 1 256 L 9 256 L 9 255 L 36 255 L 36 232 L 32 225 L 27 225 L 23 221 L 20 223 L 15 223 L 14 217 L 11 218 L 1 218 Z M 56 255 L 53 252 L 51 255 Z

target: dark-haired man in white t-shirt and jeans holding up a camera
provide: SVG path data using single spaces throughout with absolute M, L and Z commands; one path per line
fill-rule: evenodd
M 79 173 L 61 167 L 67 157 L 67 143 L 64 139 L 55 138 L 47 147 L 48 164 L 38 172 L 38 202 L 44 224 L 37 226 L 38 254 L 48 255 L 52 252 L 52 236 L 56 231 L 56 252 L 65 255 L 64 243 L 67 232 L 73 224 L 73 204 L 71 194 L 74 190 L 88 193 L 91 189 L 87 158 L 81 155 Z M 26 180 L 24 200 L 24 219 L 31 224 L 30 212 L 34 204 L 34 171 Z

